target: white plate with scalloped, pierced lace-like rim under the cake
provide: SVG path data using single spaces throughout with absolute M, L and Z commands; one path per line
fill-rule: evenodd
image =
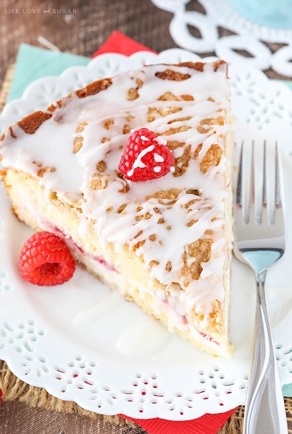
M 31 84 L 22 99 L 6 106 L 0 128 L 94 79 L 144 63 L 199 59 L 181 49 L 159 55 L 101 55 L 88 67 L 73 67 L 60 77 Z M 277 138 L 280 144 L 289 219 L 291 91 L 244 66 L 233 65 L 230 76 L 236 139 Z M 234 259 L 231 339 L 235 351 L 229 360 L 214 358 L 168 333 L 82 269 L 59 287 L 39 288 L 22 281 L 18 254 L 30 229 L 11 214 L 3 187 L 0 200 L 0 358 L 20 379 L 87 410 L 109 415 L 187 420 L 244 403 L 254 282 L 242 264 Z M 291 230 L 288 227 L 286 256 L 269 272 L 267 281 L 283 385 L 292 383 Z

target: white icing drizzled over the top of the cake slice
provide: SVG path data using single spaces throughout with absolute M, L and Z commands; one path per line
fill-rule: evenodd
M 189 74 L 190 78 L 176 81 L 172 90 L 171 81 L 155 76 L 167 68 Z M 137 79 L 143 81 L 139 98 L 129 101 L 127 92 L 137 87 Z M 212 144 L 223 148 L 223 137 L 228 130 L 227 125 L 219 122 L 204 125 L 205 119 L 217 119 L 228 109 L 230 89 L 226 66 L 220 65 L 215 72 L 213 65 L 206 64 L 204 71 L 200 72 L 188 67 L 154 65 L 120 74 L 112 81 L 107 90 L 96 95 L 86 98 L 73 95 L 66 100 L 66 107 L 56 108 L 51 119 L 44 122 L 35 134 L 25 134 L 20 127 L 14 126 L 17 139 L 7 133 L 0 143 L 2 164 L 33 176 L 37 176 L 39 168 L 34 161 L 54 167 L 55 171 L 44 173 L 40 183 L 48 193 L 56 191 L 61 198 L 79 200 L 82 209 L 80 234 L 84 234 L 88 221 L 92 219 L 96 221 L 94 228 L 103 246 L 113 243 L 115 250 L 120 252 L 125 244 L 133 249 L 140 243 L 136 254 L 143 257 L 146 267 L 150 262 L 154 264 L 151 277 L 168 287 L 170 306 L 178 314 L 187 316 L 196 304 L 197 313 L 206 316 L 211 310 L 211 302 L 223 301 L 224 297 L 222 278 L 227 253 L 222 251 L 223 200 L 228 199 L 228 194 L 223 185 L 225 157 L 222 156 L 220 163 L 210 167 L 206 173 L 200 170 L 200 163 Z M 170 90 L 175 92 L 179 101 L 160 98 Z M 184 95 L 191 95 L 193 101 L 181 98 Z M 156 110 L 151 121 L 148 119 L 149 108 Z M 108 120 L 113 123 L 106 127 Z M 76 133 L 82 122 L 87 123 L 84 131 Z M 199 146 L 202 149 L 196 159 L 189 161 L 181 176 L 174 176 L 174 168 L 171 168 L 165 177 L 128 183 L 131 188 L 122 192 L 125 181 L 117 176 L 116 171 L 128 137 L 128 134 L 123 134 L 123 127 L 128 124 L 131 131 L 141 127 L 154 131 L 158 135 L 157 143 L 185 143 L 185 146 L 177 146 L 172 151 L 178 168 L 182 166 L 180 160 L 186 147 L 190 147 L 191 155 Z M 188 129 L 180 131 L 182 126 Z M 76 137 L 83 138 L 83 146 L 74 154 Z M 147 140 L 147 137 L 143 139 Z M 151 145 L 141 151 L 128 176 L 136 167 L 144 166 L 141 158 L 153 148 Z M 154 158 L 156 162 L 162 162 L 158 154 Z M 90 182 L 99 175 L 96 167 L 101 161 L 106 163 L 106 170 L 100 173 L 105 188 L 92 190 Z M 154 171 L 159 169 L 158 165 L 153 168 Z M 171 205 L 170 199 L 157 197 L 157 192 L 172 189 L 181 191 Z M 194 194 L 194 190 L 200 191 L 201 196 Z M 137 211 L 139 204 L 143 209 Z M 124 212 L 117 213 L 122 205 L 126 205 Z M 112 211 L 107 212 L 110 207 Z M 146 215 L 151 217 L 146 219 Z M 196 223 L 190 224 L 195 220 Z M 210 231 L 212 235 L 208 235 Z M 151 237 L 153 234 L 156 238 Z M 212 255 L 208 262 L 202 263 L 201 278 L 192 280 L 182 275 L 182 267 L 190 266 L 196 260 L 188 254 L 188 246 L 200 238 L 212 238 Z M 172 264 L 171 272 L 166 269 L 169 263 Z M 183 291 L 178 291 L 173 282 L 178 282 Z

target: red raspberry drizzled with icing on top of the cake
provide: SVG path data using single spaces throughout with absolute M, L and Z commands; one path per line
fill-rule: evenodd
M 129 181 L 161 178 L 173 168 L 174 158 L 163 137 L 140 128 L 129 135 L 119 162 L 119 170 Z

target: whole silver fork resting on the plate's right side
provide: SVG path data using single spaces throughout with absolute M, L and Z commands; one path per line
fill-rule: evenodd
M 276 144 L 275 191 L 269 196 L 268 180 L 271 173 L 267 169 L 267 146 L 264 142 L 263 167 L 257 167 L 257 173 L 262 172 L 263 175 L 262 183 L 259 183 L 262 185 L 262 188 L 260 187 L 262 190 L 260 191 L 261 206 L 257 207 L 255 198 L 258 190 L 255 190 L 254 144 L 252 142 L 251 173 L 250 170 L 247 172 L 243 168 L 245 154 L 243 148 L 242 144 L 234 210 L 234 254 L 240 261 L 252 268 L 256 279 L 255 323 L 243 434 L 287 434 L 284 399 L 265 291 L 267 271 L 282 257 L 285 249 L 279 150 Z M 250 177 L 249 198 L 246 198 L 245 194 L 246 176 Z M 271 206 L 269 206 L 270 201 L 273 202 Z

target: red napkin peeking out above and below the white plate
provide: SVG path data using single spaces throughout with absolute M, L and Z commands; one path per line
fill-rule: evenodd
M 95 57 L 103 53 L 119 53 L 131 55 L 137 51 L 152 51 L 139 42 L 115 31 L 107 41 L 92 55 Z M 126 419 L 133 420 L 149 434 L 216 434 L 226 420 L 236 409 L 219 414 L 205 414 L 202 417 L 186 421 L 171 421 L 166 419 L 136 419 L 125 415 L 120 415 Z

